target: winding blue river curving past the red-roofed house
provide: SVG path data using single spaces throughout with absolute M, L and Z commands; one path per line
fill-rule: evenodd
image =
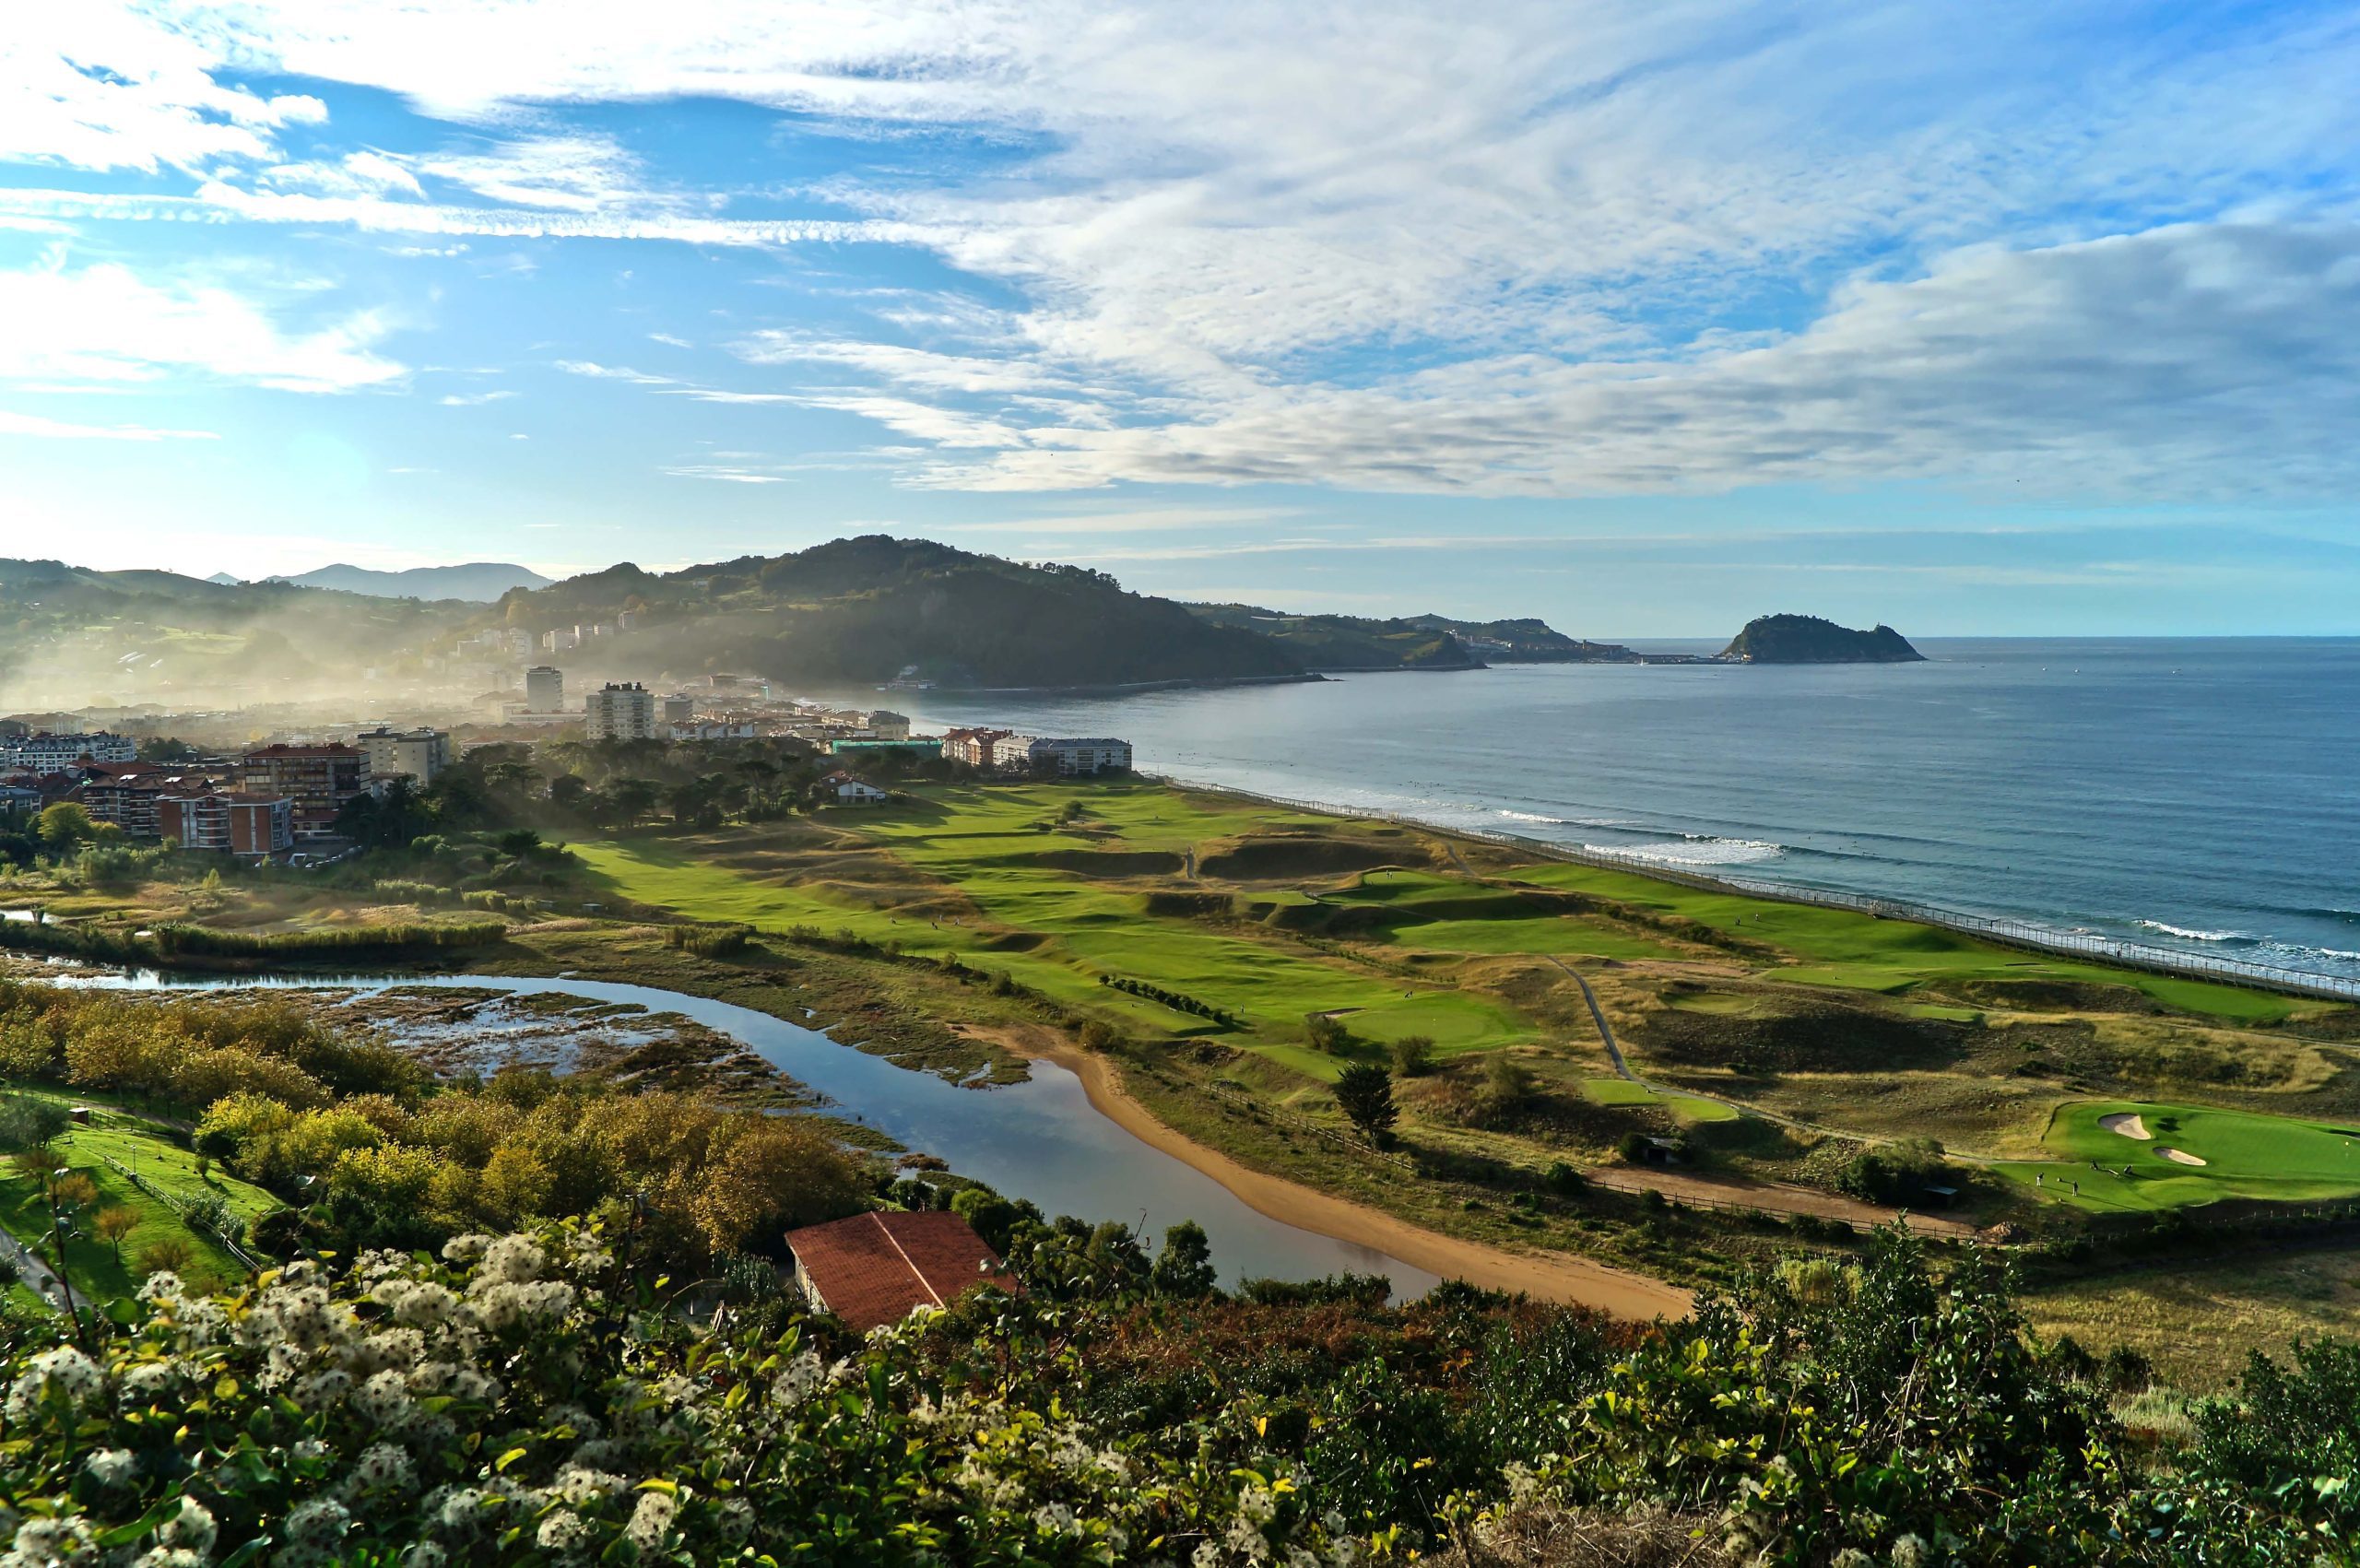
M 1135 1223 L 1161 1237 L 1194 1219 L 1213 1242 L 1222 1285 L 1239 1280 L 1317 1280 L 1333 1273 L 1385 1275 L 1395 1301 L 1440 1282 L 1374 1247 L 1319 1235 L 1256 1211 L 1187 1162 L 1145 1143 L 1090 1105 L 1081 1079 L 1055 1060 L 1034 1060 L 1022 1084 L 953 1084 L 932 1072 L 838 1044 L 819 1030 L 729 1001 L 614 980 L 517 975 L 165 975 L 158 971 L 52 975 L 45 985 L 135 992 L 222 989 L 484 989 L 512 997 L 559 994 L 680 1013 L 729 1034 L 765 1063 L 828 1100 L 828 1110 L 873 1126 L 909 1150 L 937 1155 L 961 1176 L 1008 1197 L 1029 1197 L 1045 1214 Z

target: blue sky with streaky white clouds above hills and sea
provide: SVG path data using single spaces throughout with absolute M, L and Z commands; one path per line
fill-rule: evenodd
M 2360 633 L 2360 9 L 238 0 L 0 28 L 0 555 Z

